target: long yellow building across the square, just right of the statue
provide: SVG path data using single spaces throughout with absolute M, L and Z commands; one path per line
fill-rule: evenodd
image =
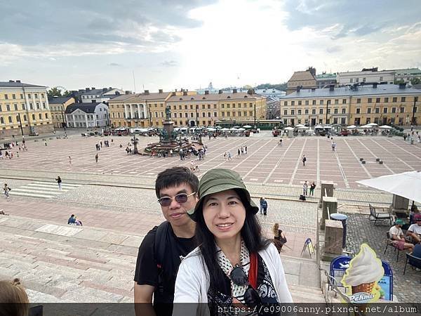
M 248 93 L 208 93 L 177 96 L 168 98 L 166 104 L 171 107 L 171 119 L 176 126 L 213 126 L 215 121 L 250 121 L 266 119 L 266 98 L 253 91 Z M 162 119 L 159 112 L 152 112 L 152 121 L 159 126 Z

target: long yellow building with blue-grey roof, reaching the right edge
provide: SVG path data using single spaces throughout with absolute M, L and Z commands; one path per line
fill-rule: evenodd
M 290 126 L 411 124 L 413 117 L 421 121 L 420 96 L 420 90 L 393 84 L 300 89 L 281 98 L 281 119 Z

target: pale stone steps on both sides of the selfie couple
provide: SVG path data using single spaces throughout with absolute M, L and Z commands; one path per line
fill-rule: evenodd
M 130 303 L 143 236 L 0 216 L 0 279 L 20 278 L 32 303 Z M 296 303 L 324 303 L 316 264 L 282 256 Z

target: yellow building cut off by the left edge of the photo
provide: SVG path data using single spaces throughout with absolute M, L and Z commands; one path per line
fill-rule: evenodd
M 0 82 L 1 138 L 54 130 L 46 86 Z

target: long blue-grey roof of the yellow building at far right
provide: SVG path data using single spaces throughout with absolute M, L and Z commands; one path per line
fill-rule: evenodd
M 377 88 L 370 86 L 359 86 L 357 90 L 352 90 L 350 86 L 334 88 L 301 89 L 300 92 L 294 91 L 281 98 L 334 98 L 340 96 L 378 96 L 378 95 L 396 95 L 396 94 L 421 94 L 420 90 L 415 88 L 399 88 L 397 84 L 380 84 Z

